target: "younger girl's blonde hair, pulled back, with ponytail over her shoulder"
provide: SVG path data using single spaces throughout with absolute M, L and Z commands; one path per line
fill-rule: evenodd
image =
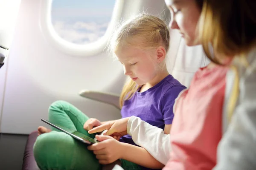
M 114 53 L 117 49 L 130 45 L 148 51 L 164 46 L 167 53 L 169 38 L 169 28 L 163 20 L 153 15 L 140 14 L 119 27 L 111 38 L 109 50 Z M 132 79 L 128 79 L 119 98 L 120 108 L 138 89 L 139 86 Z

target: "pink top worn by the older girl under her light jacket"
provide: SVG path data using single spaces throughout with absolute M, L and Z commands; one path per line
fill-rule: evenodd
M 211 170 L 222 136 L 222 106 L 228 68 L 200 68 L 175 102 L 170 159 L 163 170 Z

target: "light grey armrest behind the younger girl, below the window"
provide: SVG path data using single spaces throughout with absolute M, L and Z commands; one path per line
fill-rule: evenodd
M 99 102 L 108 103 L 120 110 L 119 96 L 116 94 L 102 93 L 99 91 L 81 90 L 79 92 L 79 95 L 88 99 L 93 99 Z

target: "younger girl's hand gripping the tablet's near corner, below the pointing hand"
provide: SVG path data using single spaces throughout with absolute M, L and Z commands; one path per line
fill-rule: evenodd
M 118 142 L 111 136 L 96 135 L 95 137 L 102 142 L 88 146 L 88 150 L 93 150 L 100 164 L 111 164 L 121 158 L 122 153 L 124 153 L 122 142 Z

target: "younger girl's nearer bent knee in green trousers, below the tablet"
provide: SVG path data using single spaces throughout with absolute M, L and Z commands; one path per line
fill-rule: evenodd
M 38 136 L 34 156 L 41 169 L 98 170 L 100 165 L 87 145 L 62 132 L 52 131 Z

